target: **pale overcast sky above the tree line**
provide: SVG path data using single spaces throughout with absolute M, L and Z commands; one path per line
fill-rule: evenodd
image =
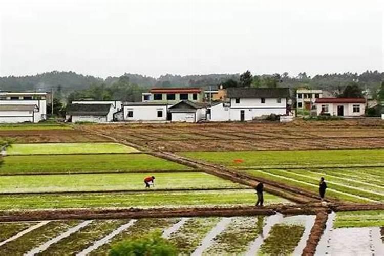
M 383 71 L 382 0 L 1 0 L 0 76 Z

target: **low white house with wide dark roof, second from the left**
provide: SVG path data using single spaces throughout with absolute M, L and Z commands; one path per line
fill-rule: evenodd
M 113 121 L 113 104 L 83 104 L 74 103 L 67 105 L 66 119 L 71 122 L 96 122 L 104 123 Z

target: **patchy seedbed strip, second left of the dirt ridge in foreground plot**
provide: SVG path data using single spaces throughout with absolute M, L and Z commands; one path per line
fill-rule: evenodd
M 205 255 L 239 255 L 243 254 L 249 244 L 263 232 L 264 216 L 236 217 L 221 232 L 205 252 Z

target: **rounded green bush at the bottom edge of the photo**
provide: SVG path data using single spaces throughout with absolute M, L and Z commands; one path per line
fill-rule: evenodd
M 133 237 L 112 246 L 110 256 L 176 256 L 174 244 L 161 237 L 156 231 L 146 236 Z

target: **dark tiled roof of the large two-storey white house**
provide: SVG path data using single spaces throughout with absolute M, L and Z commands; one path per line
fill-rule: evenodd
M 228 88 L 228 98 L 288 98 L 289 88 Z

